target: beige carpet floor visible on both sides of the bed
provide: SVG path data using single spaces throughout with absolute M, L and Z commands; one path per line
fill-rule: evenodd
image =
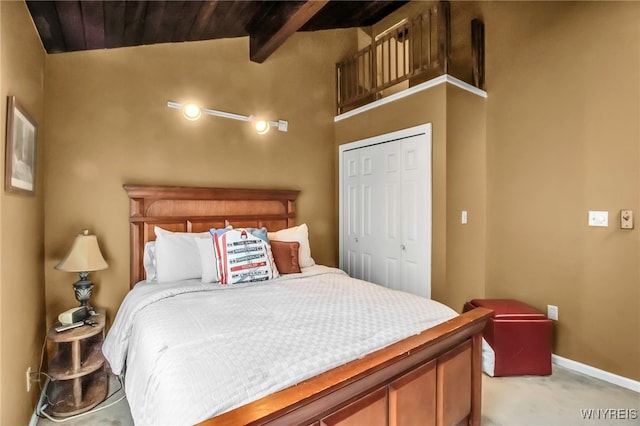
M 640 426 L 639 393 L 556 365 L 553 366 L 553 374 L 548 377 L 485 375 L 482 384 L 482 423 L 485 426 Z M 110 392 L 114 395 L 98 408 L 122 396 L 119 387 L 120 384 L 113 378 Z M 587 418 L 589 415 L 591 419 Z M 37 422 L 38 426 L 54 424 L 43 418 Z M 130 426 L 133 421 L 125 399 L 109 408 L 63 424 Z

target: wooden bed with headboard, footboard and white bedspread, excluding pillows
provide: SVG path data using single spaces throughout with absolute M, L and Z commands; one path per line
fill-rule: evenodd
M 124 188 L 132 290 L 103 351 L 126 370 L 136 424 L 480 424 L 491 311 L 457 315 L 322 265 L 254 283 L 147 281 L 158 228 L 281 235 L 302 226 L 298 191 Z

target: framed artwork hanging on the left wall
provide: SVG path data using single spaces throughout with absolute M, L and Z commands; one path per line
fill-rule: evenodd
M 20 107 L 15 96 L 7 99 L 7 142 L 4 188 L 34 194 L 36 185 L 36 123 Z

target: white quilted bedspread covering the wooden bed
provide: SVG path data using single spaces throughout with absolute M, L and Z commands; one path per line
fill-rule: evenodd
M 137 425 L 194 424 L 446 321 L 452 309 L 315 266 L 238 286 L 141 282 L 103 346 Z

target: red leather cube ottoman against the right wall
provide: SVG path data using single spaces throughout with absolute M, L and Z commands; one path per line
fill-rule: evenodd
M 473 299 L 464 311 L 476 307 L 494 311 L 483 331 L 495 353 L 494 376 L 551 374 L 553 321 L 512 299 Z

